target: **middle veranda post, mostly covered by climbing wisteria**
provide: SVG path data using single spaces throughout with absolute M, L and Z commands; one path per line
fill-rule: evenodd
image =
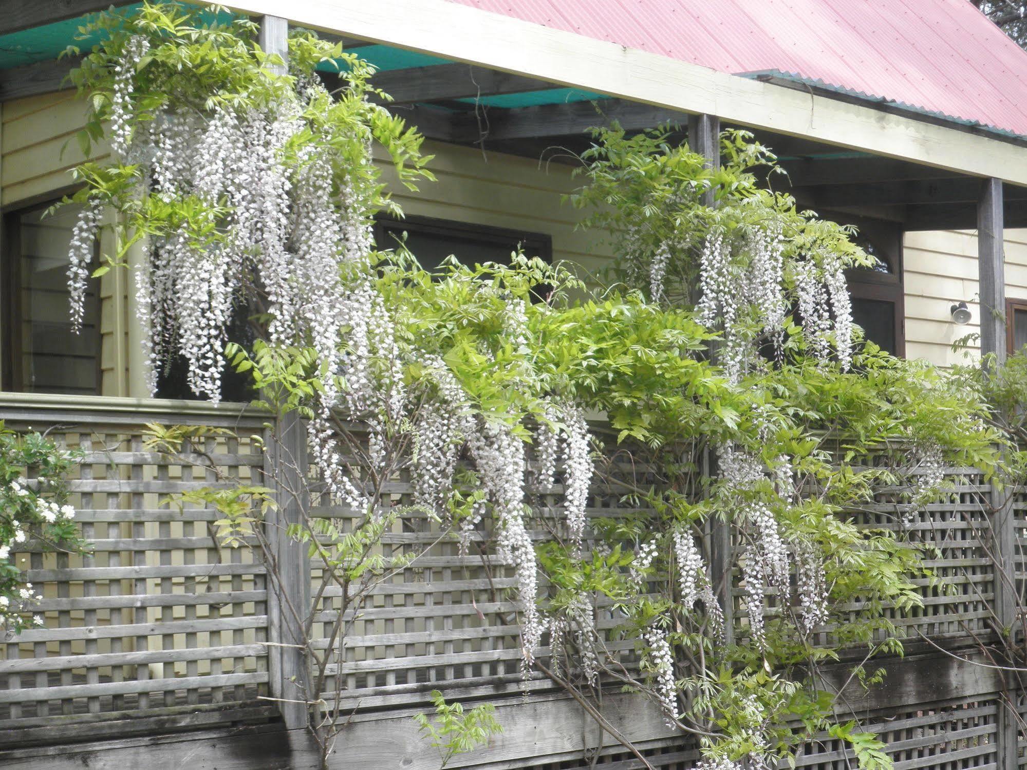
M 720 118 L 716 115 L 691 115 L 688 118 L 688 146 L 706 158 L 707 168 L 720 167 Z M 702 204 L 716 204 L 712 189 L 702 193 Z M 692 304 L 698 303 L 696 291 Z M 717 346 L 710 344 L 710 356 L 717 356 Z M 702 457 L 702 475 L 711 478 L 717 472 L 717 460 L 712 448 Z M 710 573 L 714 590 L 724 608 L 724 634 L 727 644 L 734 641 L 734 601 L 731 596 L 731 525 L 714 518 L 710 522 Z

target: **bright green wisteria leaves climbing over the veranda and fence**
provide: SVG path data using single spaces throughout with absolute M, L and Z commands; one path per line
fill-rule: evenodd
M 338 163 L 333 179 L 355 175 L 375 208 L 393 205 L 377 166 L 365 162 L 369 141 L 391 157 L 402 185 L 413 188 L 430 179 L 420 137 L 365 101 L 371 68 L 337 45 L 295 33 L 290 74 L 277 75 L 267 69 L 273 62 L 260 50 L 246 21 L 211 22 L 179 6 L 147 4 L 130 21 L 105 15 L 98 27 L 109 33 L 109 41 L 73 76 L 90 100 L 84 150 L 103 136 L 103 123 L 113 114 L 115 70 L 132 32 L 150 41 L 131 94 L 142 121 L 177 109 L 203 113 L 219 103 L 260 108 L 293 88 L 296 78 L 312 75 L 318 64 L 341 62 L 347 87 L 338 101 L 319 95 L 305 109 L 308 130 L 284 152 L 299 163 L 305 147 L 331 146 Z M 450 259 L 430 273 L 402 243 L 354 268 L 366 269 L 362 277 L 381 298 L 394 335 L 394 345 L 370 354 L 369 371 L 377 378 L 398 371 L 413 402 L 378 426 L 377 465 L 368 460 L 358 429 L 346 421 L 351 416 L 317 411 L 322 392 L 346 392 L 347 383 L 338 371 L 329 371 L 309 340 L 293 345 L 261 340 L 250 350 L 231 345 L 226 351 L 238 371 L 253 377 L 260 406 L 276 417 L 324 418 L 338 439 L 326 451 L 354 457 L 342 464 L 349 464 L 350 477 L 367 492 L 369 502 L 350 525 L 304 509 L 288 530 L 324 567 L 314 605 L 329 589 L 341 603 L 327 644 L 319 651 L 307 645 L 319 677 L 309 697 L 312 711 L 331 708 L 321 700 L 319 685 L 327 681 L 336 645 L 342 647 L 350 622 L 345 618 L 358 615 L 376 581 L 416 557 L 383 554 L 383 534 L 411 511 L 380 503 L 389 479 L 408 468 L 417 452 L 414 425 L 420 407 L 430 406 L 441 388 L 432 369 L 441 361 L 465 396 L 474 425 L 501 424 L 533 444 L 539 426 L 554 427 L 559 419 L 546 410 L 554 399 L 604 424 L 592 435 L 597 491 L 619 497 L 625 514 L 594 519 L 596 541 L 582 548 L 553 511 L 533 513 L 532 524 L 546 533 L 537 547 L 542 582 L 548 586 L 541 604 L 567 629 L 580 631 L 563 648 L 566 657 L 577 657 L 565 661 L 570 663 L 566 670 L 573 671 L 591 650 L 599 666 L 610 663 L 601 672 L 630 689 L 660 699 L 665 693 L 658 688 L 669 684 L 672 692 L 662 702 L 674 724 L 699 735 L 714 759 L 788 758 L 796 745 L 828 730 L 852 745 L 862 767 L 886 768 L 880 742 L 853 724 L 834 724 L 834 699 L 816 685 L 817 666 L 840 658 L 845 648 L 866 646 L 868 657 L 901 654 L 902 628 L 893 614 L 922 602 L 916 578 L 926 573 L 919 546 L 908 542 L 900 527 L 871 526 L 861 514 L 880 487 L 910 487 L 911 448 L 938 448 L 946 462 L 997 474 L 1003 461 L 995 447 L 1005 440 L 987 399 L 1015 400 L 1021 380 L 1027 383 L 1027 367 L 1020 371 L 1015 364 L 1006 380 L 981 383 L 897 359 L 870 343 L 858 346 L 850 367 L 842 365 L 830 355 L 814 355 L 804 320 L 783 311 L 775 355 L 754 356 L 752 365 L 739 369 L 743 376 L 727 376 L 715 352 L 720 335 L 705 328 L 695 310 L 699 255 L 712 232 L 738 242 L 760 233 L 779 238 L 790 299 L 800 259 L 833 264 L 837 275 L 842 267 L 869 264 L 869 258 L 851 241 L 851 228 L 800 211 L 790 196 L 766 189 L 758 171 L 769 168 L 772 181 L 774 158 L 743 132 L 724 134 L 725 160 L 716 170 L 675 142 L 670 127 L 635 136 L 598 129 L 595 137 L 582 157 L 586 185 L 570 200 L 589 210 L 583 226 L 603 229 L 617 241 L 623 259 L 613 266 L 609 285 L 586 285 L 571 266 L 517 254 L 508 266 L 468 267 Z M 117 163 L 86 163 L 77 171 L 86 186 L 75 199 L 100 200 L 124 223 L 106 267 L 123 264 L 127 248 L 147 236 L 184 231 L 210 246 L 225 237 L 222 201 L 138 195 L 139 174 L 138 167 Z M 333 194 L 339 194 L 338 187 Z M 707 196 L 715 206 L 707 205 Z M 663 247 L 670 248 L 667 291 L 654 296 L 642 268 Z M 739 255 L 747 259 L 744 249 Z M 253 294 L 259 299 L 258 291 Z M 748 340 L 761 341 L 759 308 L 741 311 L 736 324 Z M 344 355 L 353 352 L 351 332 L 342 330 L 337 342 Z M 148 446 L 165 453 L 196 455 L 198 444 L 219 437 L 202 428 L 150 430 Z M 744 490 L 724 473 L 702 472 L 703 459 L 724 447 L 756 469 L 758 479 Z M 466 453 L 460 459 L 466 461 Z M 378 466 L 381 470 L 370 469 Z M 455 474 L 445 505 L 451 529 L 472 525 L 476 511 L 481 515 L 488 480 L 470 468 Z M 221 511 L 221 537 L 235 545 L 282 501 L 270 489 L 240 479 L 226 487 L 190 493 L 179 502 Z M 804 628 L 796 622 L 801 608 L 790 598 L 772 598 L 748 618 L 736 618 L 732 641 L 726 643 L 715 632 L 710 608 L 700 607 L 708 598 L 698 604 L 685 600 L 675 543 L 682 537 L 701 543 L 700 561 L 708 565 L 707 533 L 723 525 L 737 542 L 750 544 L 758 535 L 747 518 L 752 510 L 765 512 L 788 548 L 815 554 L 827 607 L 824 622 Z M 436 511 L 430 515 L 439 518 Z M 494 534 L 487 524 L 482 530 Z M 444 531 L 440 539 L 452 534 Z M 646 548 L 649 556 L 643 560 Z M 751 557 L 732 566 L 745 571 Z M 625 672 L 598 633 L 584 632 L 588 613 L 582 606 L 592 610 L 600 603 L 619 618 L 612 630 L 618 647 L 637 647 L 642 676 Z M 754 630 L 759 618 L 765 624 L 762 639 Z M 310 618 L 298 621 L 309 630 Z M 669 661 L 656 659 L 653 632 L 665 640 Z M 854 676 L 868 686 L 879 679 L 862 665 Z M 578 679 L 570 686 L 595 685 Z M 459 703 L 447 703 L 443 693 L 432 698 L 434 720 L 416 719 L 444 764 L 498 731 L 491 707 L 465 713 Z M 324 726 L 339 718 L 336 706 L 333 715 L 312 721 Z

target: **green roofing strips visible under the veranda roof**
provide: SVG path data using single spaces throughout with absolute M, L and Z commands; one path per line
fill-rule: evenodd
M 46 1 L 40 0 L 40 2 Z M 123 10 L 131 11 L 141 5 L 142 3 L 129 5 Z M 224 15 L 228 16 L 229 14 Z M 9 35 L 0 35 L 0 70 L 56 59 L 69 45 L 76 45 L 82 51 L 88 51 L 92 46 L 101 42 L 102 37 L 100 34 L 94 33 L 84 39 L 79 39 L 79 28 L 87 20 L 88 16 L 69 18 L 64 22 L 44 25 L 43 27 L 13 32 Z M 374 65 L 379 72 L 404 70 L 410 67 L 432 67 L 435 65 L 451 64 L 450 60 L 447 59 L 404 50 L 403 48 L 392 48 L 387 45 L 367 45 L 362 46 L 356 51 L 362 59 Z M 318 67 L 318 69 L 325 71 L 333 70 L 332 65 L 327 62 Z M 462 99 L 460 101 L 469 105 L 478 103 L 488 105 L 489 107 L 512 109 L 537 105 L 586 102 L 597 99 L 606 99 L 606 97 L 601 93 L 583 91 L 577 88 L 555 88 L 527 93 L 484 97 L 480 100 Z

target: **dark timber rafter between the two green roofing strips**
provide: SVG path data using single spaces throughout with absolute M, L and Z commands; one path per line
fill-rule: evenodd
M 465 64 L 387 70 L 376 73 L 371 78 L 371 83 L 392 98 L 390 103 L 385 104 L 393 105 L 524 93 L 559 87 L 542 80 Z

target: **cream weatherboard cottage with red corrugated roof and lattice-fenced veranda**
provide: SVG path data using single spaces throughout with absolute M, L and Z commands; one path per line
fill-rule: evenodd
M 152 421 L 241 436 L 260 432 L 261 418 L 239 416 L 231 383 L 217 408 L 185 400 L 174 372 L 161 398 L 149 398 L 125 271 L 93 280 L 83 334 L 71 335 L 73 213 L 41 215 L 83 159 L 74 138 L 84 107 L 67 89 L 73 61 L 56 55 L 83 14 L 109 5 L 0 2 L 0 419 L 54 426 L 87 450 L 117 447 L 78 482 L 96 554 L 78 567 L 25 557 L 53 622 L 0 639 L 0 766 L 310 767 L 301 726 L 259 699 L 288 690 L 288 652 L 265 644 L 275 611 L 261 569 L 238 553 L 220 563 L 201 517 L 183 523 L 153 502 L 203 479 L 156 463 L 140 438 Z M 718 129 L 741 127 L 778 155 L 789 180 L 776 185 L 860 227 L 879 262 L 848 276 L 853 310 L 882 347 L 948 365 L 1027 344 L 1027 52 L 966 0 L 228 5 L 265 21 L 269 49 L 296 25 L 340 37 L 378 67 L 374 82 L 435 156 L 436 183 L 396 192 L 419 255 L 480 261 L 521 242 L 599 267 L 608 244 L 561 204 L 575 183 L 551 148 L 583 149 L 586 129 L 605 120 L 671 121 L 717 163 Z M 382 220 L 377 234 L 394 227 Z M 960 303 L 968 322 L 954 317 Z M 220 461 L 254 473 L 264 462 L 245 439 Z M 433 565 L 369 618 L 347 675 L 358 710 L 333 768 L 438 767 L 410 716 L 443 684 L 503 713 L 503 739 L 468 766 L 587 767 L 581 752 L 597 743 L 602 766 L 638 766 L 565 697 L 540 684 L 522 696 L 515 638 L 461 632 L 479 615 L 503 626 L 480 566 L 452 554 Z M 911 622 L 957 636 L 984 613 L 975 602 L 939 602 Z M 860 708 L 902 767 L 941 767 L 943 755 L 951 768 L 1023 763 L 992 671 L 927 653 L 891 671 Z M 653 766 L 694 762 L 654 708 L 611 693 L 609 715 Z M 843 754 L 825 739 L 800 762 L 842 768 Z

